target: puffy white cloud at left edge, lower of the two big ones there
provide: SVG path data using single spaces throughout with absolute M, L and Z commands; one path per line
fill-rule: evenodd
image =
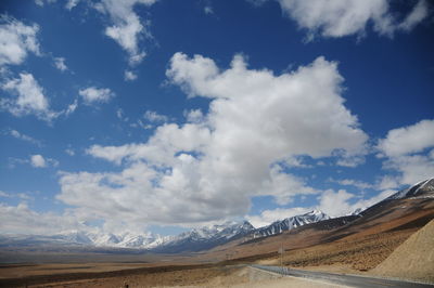
M 0 107 L 14 116 L 36 115 L 38 118 L 48 121 L 59 116 L 59 113 L 50 110 L 43 89 L 31 74 L 22 73 L 20 78 L 3 82 L 1 89 L 16 95 L 15 99 L 2 99 L 0 101 Z

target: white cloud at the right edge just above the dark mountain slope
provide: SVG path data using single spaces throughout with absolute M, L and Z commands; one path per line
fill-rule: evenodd
M 379 141 L 379 157 L 383 157 L 383 167 L 397 172 L 385 175 L 380 187 L 399 187 L 411 185 L 434 175 L 434 120 L 421 120 L 412 126 L 388 131 L 385 139 Z

